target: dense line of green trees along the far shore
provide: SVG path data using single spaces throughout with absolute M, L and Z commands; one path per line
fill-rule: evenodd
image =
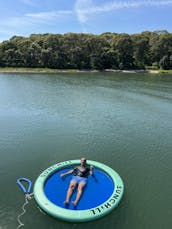
M 13 36 L 0 43 L 0 67 L 172 69 L 172 33 L 86 33 Z

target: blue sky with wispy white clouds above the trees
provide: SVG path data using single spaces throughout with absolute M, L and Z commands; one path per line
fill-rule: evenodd
M 172 32 L 172 0 L 1 0 L 0 42 L 38 33 Z

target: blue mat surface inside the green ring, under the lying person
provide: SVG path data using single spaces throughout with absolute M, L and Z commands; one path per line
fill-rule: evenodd
M 54 173 L 45 183 L 45 195 L 55 205 L 72 210 L 86 210 L 101 205 L 112 195 L 115 184 L 111 177 L 99 169 L 94 169 L 94 177 L 89 176 L 87 185 L 84 188 L 83 195 L 77 207 L 74 208 L 71 202 L 68 206 L 65 206 L 63 202 L 66 199 L 66 193 L 72 175 L 61 178 L 60 174 L 68 170 L 69 169 L 63 169 Z M 71 201 L 75 200 L 76 192 L 77 188 L 71 197 Z

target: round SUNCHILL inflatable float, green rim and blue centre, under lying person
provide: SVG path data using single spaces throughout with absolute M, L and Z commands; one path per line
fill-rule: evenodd
M 94 176 L 88 177 L 78 205 L 64 205 L 71 176 L 61 178 L 60 174 L 79 164 L 80 160 L 60 162 L 47 168 L 37 178 L 34 197 L 46 213 L 65 221 L 85 222 L 98 219 L 118 206 L 124 192 L 122 179 L 110 167 L 91 160 L 87 160 L 87 165 L 94 167 Z M 75 199 L 76 192 L 71 200 Z

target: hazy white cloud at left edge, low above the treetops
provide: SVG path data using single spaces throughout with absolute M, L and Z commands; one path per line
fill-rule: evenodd
M 48 32 L 49 26 L 62 24 L 65 20 L 70 20 L 72 16 L 72 11 L 49 11 L 27 13 L 18 17 L 8 17 L 0 21 L 0 39 L 2 39 L 2 35 L 4 37 L 11 37 L 14 34 L 30 34 L 37 31 L 38 28 Z

